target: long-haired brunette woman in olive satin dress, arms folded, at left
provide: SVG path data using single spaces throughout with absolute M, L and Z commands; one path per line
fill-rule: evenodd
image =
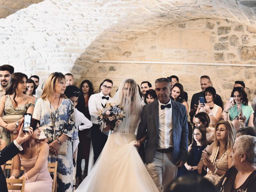
M 7 144 L 17 136 L 17 127 L 23 120 L 25 113 L 33 114 L 35 99 L 25 94 L 27 88 L 26 74 L 17 72 L 12 74 L 6 94 L 0 99 L 0 138 Z M 12 136 L 12 139 L 11 139 Z

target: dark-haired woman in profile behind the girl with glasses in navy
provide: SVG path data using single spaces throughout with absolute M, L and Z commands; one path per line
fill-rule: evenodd
M 203 127 L 206 130 L 206 140 L 208 144 L 211 144 L 215 140 L 214 128 L 209 127 L 210 117 L 205 112 L 199 112 L 195 115 L 195 126 Z

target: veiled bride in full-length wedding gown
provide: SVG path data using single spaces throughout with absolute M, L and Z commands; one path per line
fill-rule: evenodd
M 92 171 L 76 192 L 157 192 L 134 146 L 142 111 L 136 82 L 124 80 L 111 103 L 124 106 L 126 118 L 116 125 Z

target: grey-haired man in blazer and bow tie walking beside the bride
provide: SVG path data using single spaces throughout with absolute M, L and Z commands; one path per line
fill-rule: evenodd
M 142 109 L 137 140 L 147 134 L 144 161 L 158 190 L 167 192 L 188 154 L 188 123 L 184 105 L 170 99 L 170 81 L 155 81 L 158 100 Z

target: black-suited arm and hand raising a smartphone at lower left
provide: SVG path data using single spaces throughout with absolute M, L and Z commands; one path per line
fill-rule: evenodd
M 22 143 L 30 138 L 33 133 L 32 127 L 30 128 L 30 132 L 24 133 L 22 130 L 19 132 L 18 137 L 11 142 L 8 146 L 6 146 L 3 150 L 0 151 L 0 165 L 6 163 L 6 161 L 10 160 L 16 154 L 23 150 Z M 8 192 L 6 186 L 6 179 L 4 176 L 4 172 L 0 166 L 0 192 Z

